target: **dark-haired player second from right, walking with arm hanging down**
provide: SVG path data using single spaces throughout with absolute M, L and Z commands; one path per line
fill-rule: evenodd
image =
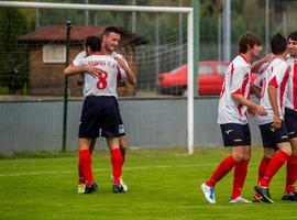
M 262 78 L 261 106 L 267 111 L 267 116 L 257 116 L 263 146 L 272 148 L 271 160 L 265 155 L 260 164 L 263 173 L 258 175 L 258 184 L 254 187 L 255 191 L 262 196 L 265 202 L 273 204 L 268 186 L 273 176 L 286 163 L 292 154 L 292 147 L 288 140 L 288 132 L 285 127 L 284 110 L 286 103 L 286 88 L 288 81 L 288 65 L 286 58 L 286 38 L 276 34 L 271 41 L 272 53 L 275 58 L 267 64 Z M 277 151 L 277 152 L 276 152 Z M 276 152 L 275 154 L 273 152 Z M 266 157 L 266 158 L 265 158 Z M 265 162 L 267 161 L 267 162 Z M 266 167 L 265 167 L 266 166 Z M 264 172 L 265 170 L 265 172 Z M 262 177 L 262 178 L 261 178 Z

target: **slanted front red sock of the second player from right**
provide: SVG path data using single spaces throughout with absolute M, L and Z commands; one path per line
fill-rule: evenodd
M 271 158 L 271 162 L 267 166 L 265 175 L 260 180 L 260 186 L 268 187 L 273 176 L 286 163 L 288 157 L 289 157 L 289 155 L 283 151 L 278 151 L 276 154 L 274 154 L 274 156 Z

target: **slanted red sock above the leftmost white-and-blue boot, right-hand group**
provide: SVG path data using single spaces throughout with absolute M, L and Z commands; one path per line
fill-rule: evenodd
M 232 155 L 224 158 L 212 173 L 211 177 L 206 182 L 206 185 L 215 187 L 216 183 L 219 182 L 224 175 L 227 175 L 235 164 L 237 161 L 233 158 Z

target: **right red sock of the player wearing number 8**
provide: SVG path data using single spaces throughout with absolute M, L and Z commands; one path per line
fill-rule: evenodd
M 120 148 L 113 148 L 110 151 L 112 175 L 114 184 L 120 185 L 120 177 L 122 175 L 123 156 Z

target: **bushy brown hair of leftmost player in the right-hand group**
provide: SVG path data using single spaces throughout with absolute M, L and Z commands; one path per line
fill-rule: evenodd
M 254 32 L 248 31 L 242 34 L 239 38 L 239 53 L 245 54 L 250 48 L 253 48 L 254 45 L 261 46 L 262 38 Z

